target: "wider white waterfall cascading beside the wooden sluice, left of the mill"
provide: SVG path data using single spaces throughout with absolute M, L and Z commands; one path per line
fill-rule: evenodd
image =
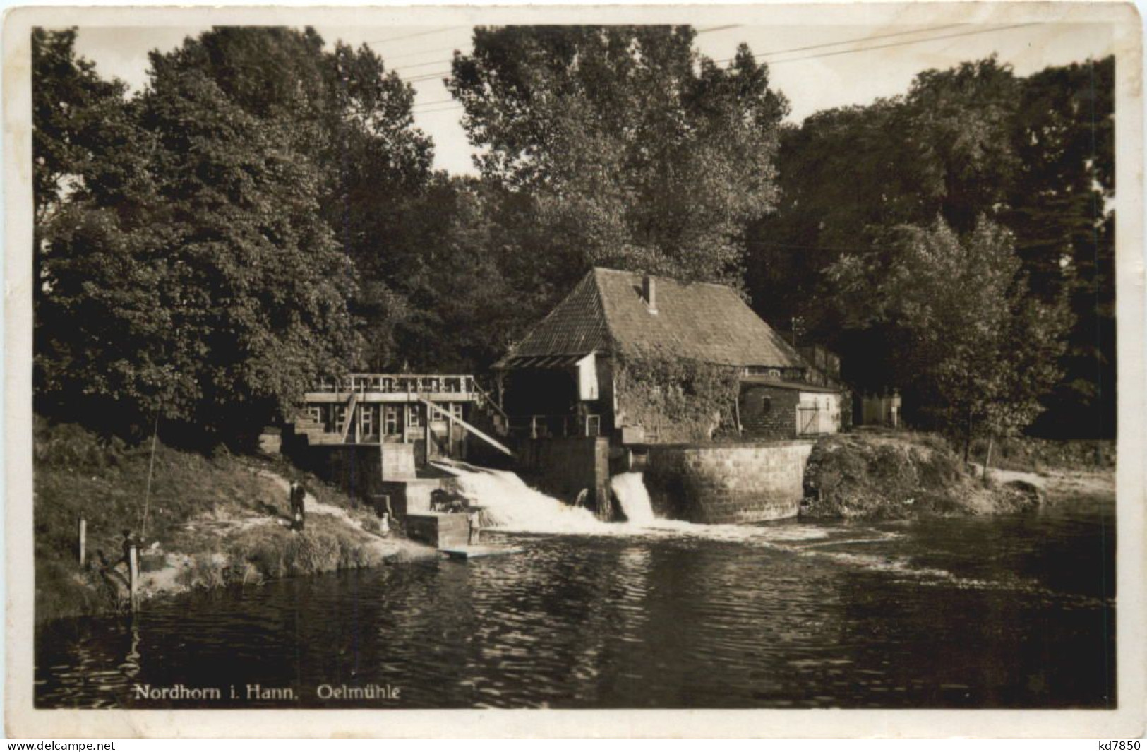
M 606 533 L 610 525 L 526 486 L 504 470 L 435 462 L 458 480 L 459 493 L 485 510 L 486 524 L 516 533 Z

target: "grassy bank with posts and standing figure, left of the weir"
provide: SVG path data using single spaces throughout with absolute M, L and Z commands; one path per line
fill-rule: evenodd
M 142 532 L 150 444 L 128 447 L 37 418 L 33 449 L 37 620 L 123 608 L 123 532 L 136 537 Z M 289 529 L 289 479 L 312 494 L 302 533 Z M 143 598 L 424 553 L 407 541 L 380 537 L 374 512 L 356 509 L 336 489 L 287 463 L 256 457 L 206 457 L 159 443 L 147 507 Z M 83 568 L 81 517 L 87 520 Z

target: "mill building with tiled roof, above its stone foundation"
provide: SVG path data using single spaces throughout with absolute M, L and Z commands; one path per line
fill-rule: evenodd
M 735 379 L 735 405 L 688 418 L 688 410 L 650 413 L 648 389 L 639 400 L 624 374 L 635 359 L 724 370 Z M 510 431 L 531 439 L 665 444 L 841 428 L 841 389 L 723 285 L 594 269 L 494 369 Z M 676 390 L 676 404 L 688 406 L 689 389 L 666 383 L 663 396 Z

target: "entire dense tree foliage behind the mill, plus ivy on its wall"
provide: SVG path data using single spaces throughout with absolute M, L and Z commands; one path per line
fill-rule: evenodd
M 366 46 L 218 28 L 130 95 L 37 30 L 37 408 L 232 436 L 319 373 L 481 372 L 607 265 L 748 292 L 915 420 L 1114 431 L 1111 59 L 782 126 L 767 67 L 695 33 L 476 29 L 447 82 L 475 179 L 432 171 Z M 732 405 L 696 364 L 630 366 L 634 409 L 705 433 Z

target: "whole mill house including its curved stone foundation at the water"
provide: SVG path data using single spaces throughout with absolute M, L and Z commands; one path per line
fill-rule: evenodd
M 591 270 L 494 364 L 516 466 L 624 515 L 610 478 L 643 472 L 654 511 L 695 522 L 796 515 L 818 437 L 841 431 L 820 372 L 732 288 Z

